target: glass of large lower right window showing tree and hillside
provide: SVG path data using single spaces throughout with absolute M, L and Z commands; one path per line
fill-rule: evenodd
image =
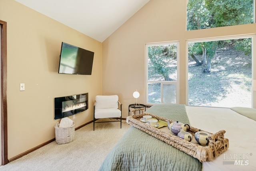
M 188 105 L 253 107 L 253 38 L 188 42 Z

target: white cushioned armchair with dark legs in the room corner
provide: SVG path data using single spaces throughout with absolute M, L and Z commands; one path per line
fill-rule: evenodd
M 118 109 L 118 104 L 120 104 L 120 110 Z M 96 120 L 103 118 L 115 118 L 116 120 L 96 122 Z M 119 121 L 120 128 L 122 128 L 122 103 L 118 101 L 118 95 L 96 95 L 93 112 L 93 130 L 95 123 Z

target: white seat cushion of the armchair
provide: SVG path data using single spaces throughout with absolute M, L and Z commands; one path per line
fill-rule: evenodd
M 95 118 L 112 118 L 112 117 L 121 117 L 121 111 L 116 108 L 109 109 L 95 109 Z

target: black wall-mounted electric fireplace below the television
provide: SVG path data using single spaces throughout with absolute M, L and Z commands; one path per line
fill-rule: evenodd
M 55 117 L 60 119 L 88 109 L 88 93 L 54 98 Z

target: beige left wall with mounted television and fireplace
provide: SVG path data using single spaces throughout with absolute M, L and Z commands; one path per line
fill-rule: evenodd
M 88 92 L 89 109 L 74 121 L 78 127 L 92 120 L 94 97 L 102 93 L 102 43 L 14 0 L 0 0 L 0 20 L 8 30 L 10 159 L 54 138 L 54 97 Z M 95 52 L 92 76 L 58 74 L 61 42 Z

